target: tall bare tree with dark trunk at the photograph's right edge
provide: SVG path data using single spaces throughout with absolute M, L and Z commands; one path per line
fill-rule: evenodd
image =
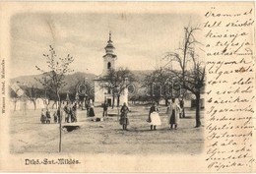
M 183 43 L 176 52 L 167 52 L 163 59 L 167 60 L 165 67 L 180 82 L 184 89 L 189 90 L 196 98 L 196 127 L 201 126 L 200 121 L 200 94 L 205 82 L 205 65 L 195 54 L 195 46 L 200 44 L 194 33 L 199 28 L 188 26 L 184 28 Z M 190 64 L 188 64 L 190 62 Z M 177 63 L 179 70 L 172 69 L 172 63 Z

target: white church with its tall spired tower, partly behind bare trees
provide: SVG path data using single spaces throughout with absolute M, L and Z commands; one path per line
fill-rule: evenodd
M 115 69 L 115 63 L 117 61 L 117 56 L 114 54 L 115 47 L 113 46 L 113 41 L 111 40 L 111 32 L 109 32 L 109 39 L 107 41 L 106 46 L 104 47 L 105 54 L 102 56 L 103 70 L 102 73 L 96 77 L 95 80 L 95 105 L 101 105 L 106 101 L 108 105 L 112 105 L 113 103 L 113 94 L 111 89 L 107 87 L 102 87 L 102 82 L 100 77 L 107 77 L 108 72 L 111 69 Z M 99 85 L 100 84 L 100 85 Z M 128 89 L 125 88 L 124 91 L 120 95 L 120 104 L 123 102 L 128 102 Z M 115 97 L 115 105 L 117 103 L 117 98 Z

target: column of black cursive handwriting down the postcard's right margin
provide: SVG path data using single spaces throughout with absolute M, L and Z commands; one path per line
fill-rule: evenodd
M 205 13 L 207 55 L 206 139 L 208 168 L 247 171 L 254 130 L 253 9 Z

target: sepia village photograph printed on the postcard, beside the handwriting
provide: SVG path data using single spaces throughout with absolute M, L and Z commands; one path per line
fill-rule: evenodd
M 201 153 L 202 41 L 195 14 L 13 16 L 10 152 Z

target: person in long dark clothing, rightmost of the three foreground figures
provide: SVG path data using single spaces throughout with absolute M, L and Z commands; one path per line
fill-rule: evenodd
M 170 125 L 170 129 L 172 129 L 173 125 L 175 126 L 175 129 L 177 129 L 180 107 L 175 102 L 175 98 L 172 98 L 171 100 L 172 102 L 169 110 L 170 113 L 168 117 L 168 124 Z

